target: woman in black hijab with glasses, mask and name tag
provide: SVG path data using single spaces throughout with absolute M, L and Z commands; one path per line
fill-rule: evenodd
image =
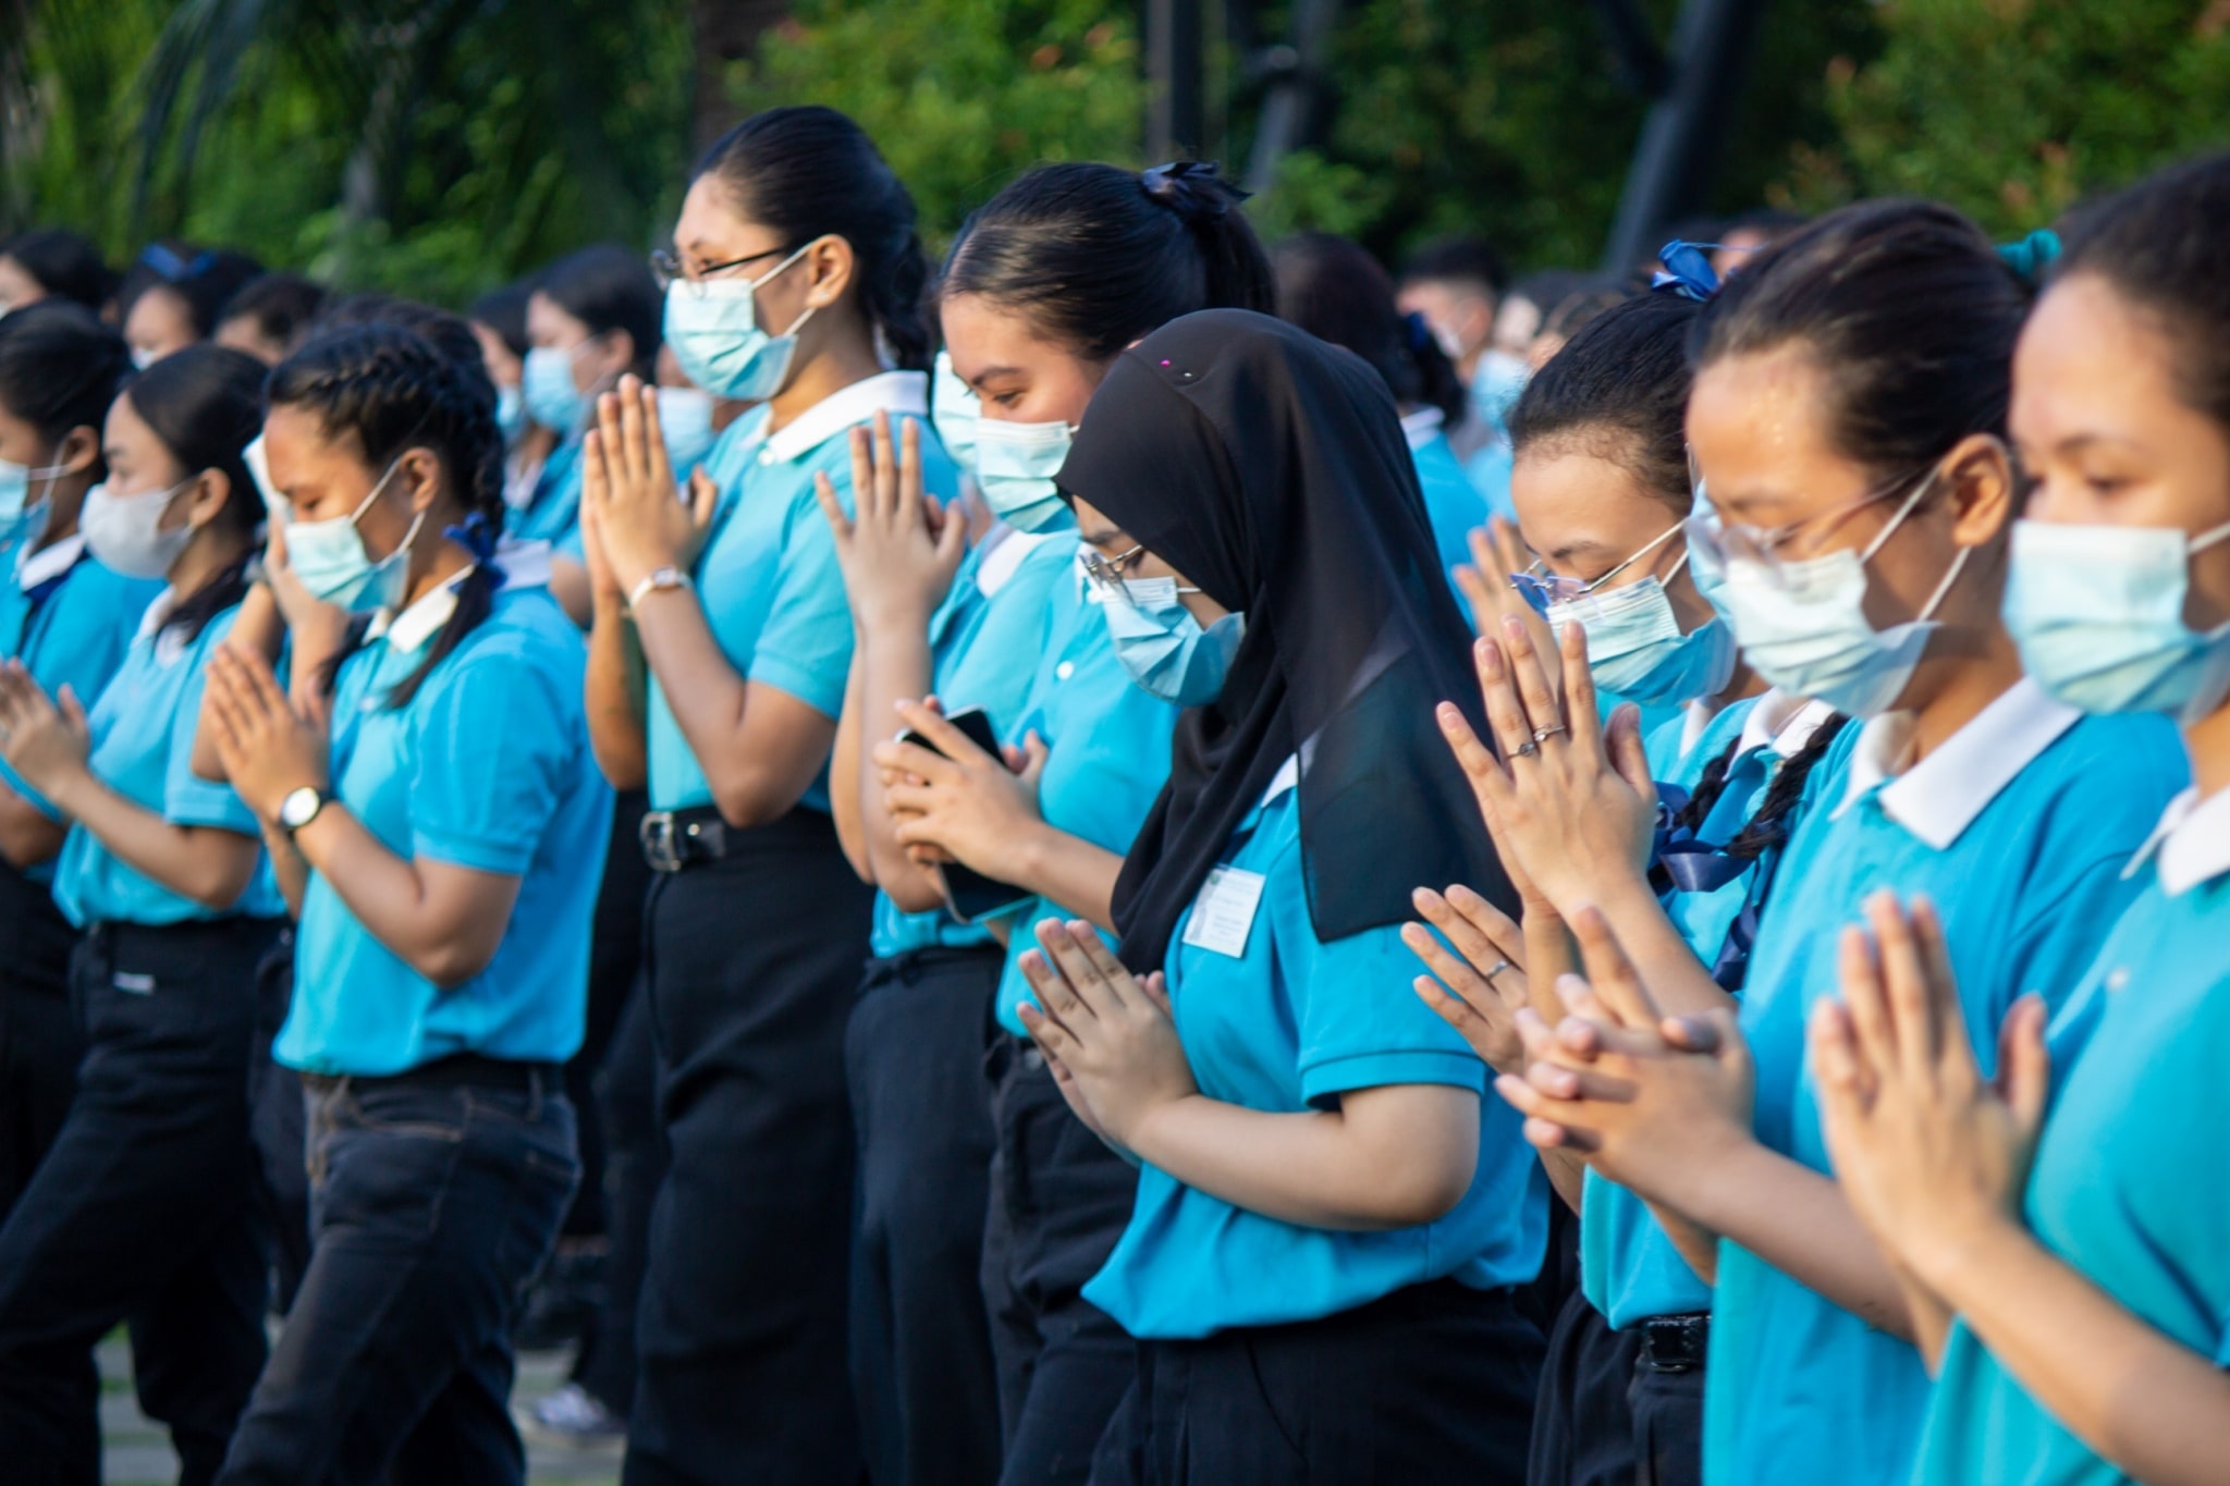
M 1084 1294 L 1140 1337 L 1093 1482 L 1519 1482 L 1545 1205 L 1412 991 L 1418 884 L 1507 900 L 1432 724 L 1465 684 L 1385 383 L 1238 310 L 1115 363 L 1059 475 L 1117 655 L 1191 704 L 1122 962 L 1039 927 L 1024 1018 L 1142 1163 Z

